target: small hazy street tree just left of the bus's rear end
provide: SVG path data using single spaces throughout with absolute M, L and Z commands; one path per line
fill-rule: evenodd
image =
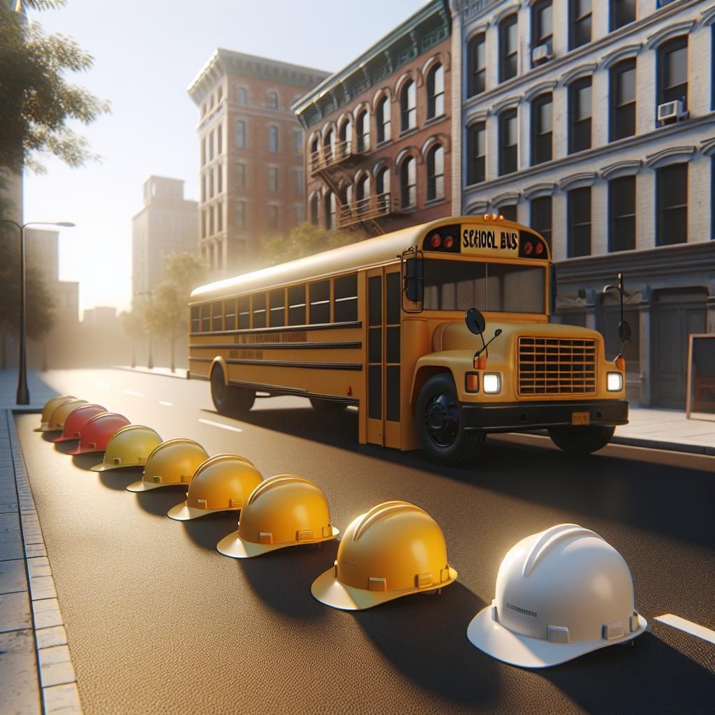
M 204 281 L 208 266 L 197 255 L 176 253 L 167 259 L 162 280 L 144 307 L 144 325 L 154 335 L 169 340 L 172 373 L 176 370 L 174 347 L 177 337 L 187 332 L 187 304 L 192 290 Z

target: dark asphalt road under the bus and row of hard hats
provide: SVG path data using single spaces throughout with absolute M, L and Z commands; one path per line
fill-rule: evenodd
M 440 596 L 335 611 L 310 584 L 337 543 L 221 556 L 215 545 L 235 514 L 171 521 L 181 488 L 129 493 L 139 471 L 89 471 L 96 456 L 64 455 L 31 431 L 37 415 L 17 415 L 87 713 L 713 711 L 715 646 L 653 620 L 674 613 L 715 629 L 713 458 L 616 446 L 573 458 L 545 438 L 506 435 L 472 468 L 443 468 L 360 446 L 355 412 L 322 419 L 307 400 L 259 400 L 238 422 L 214 413 L 203 382 L 121 370 L 45 380 L 164 439 L 245 455 L 264 476 L 314 480 L 341 530 L 382 501 L 418 504 L 442 526 L 459 572 Z M 561 522 L 621 552 L 648 632 L 541 671 L 490 659 L 467 624 L 493 598 L 506 551 Z

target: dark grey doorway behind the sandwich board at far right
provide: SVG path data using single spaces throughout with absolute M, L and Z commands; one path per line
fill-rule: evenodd
M 705 332 L 706 293 L 660 290 L 653 312 L 651 395 L 656 407 L 685 409 L 688 335 Z

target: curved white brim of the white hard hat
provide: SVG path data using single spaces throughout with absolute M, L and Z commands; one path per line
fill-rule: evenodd
M 521 633 L 514 633 L 501 623 L 493 621 L 491 605 L 482 608 L 467 627 L 470 643 L 485 654 L 498 661 L 520 668 L 548 668 L 592 651 L 631 641 L 644 633 L 648 626 L 646 619 L 638 614 L 638 630 L 626 633 L 623 638 L 608 641 L 598 638 L 596 641 L 575 641 L 573 643 L 551 643 L 541 638 L 529 638 Z

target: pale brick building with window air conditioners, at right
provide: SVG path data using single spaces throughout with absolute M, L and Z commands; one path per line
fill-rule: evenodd
M 450 4 L 462 212 L 541 231 L 557 319 L 600 330 L 611 356 L 620 311 L 603 289 L 622 270 L 628 396 L 684 408 L 688 335 L 715 332 L 715 7 Z

